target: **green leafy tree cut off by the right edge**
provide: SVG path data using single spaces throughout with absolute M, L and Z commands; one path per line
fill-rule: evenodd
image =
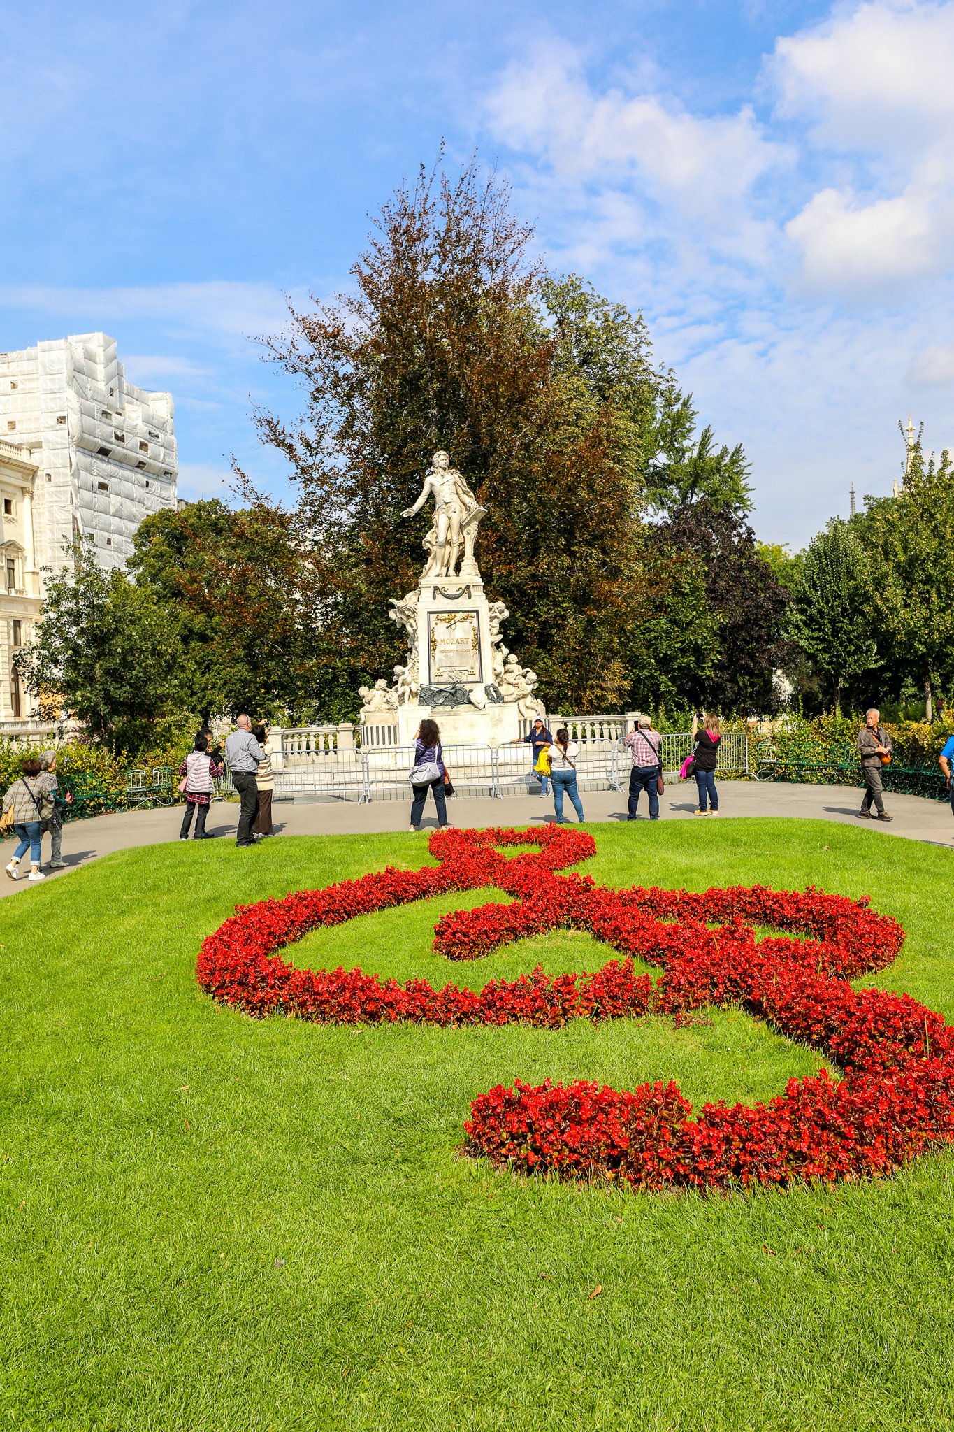
M 918 444 L 900 495 L 867 498 L 855 518 L 875 574 L 871 629 L 890 695 L 907 680 L 924 692 L 954 682 L 954 467 L 947 451 L 925 463 Z

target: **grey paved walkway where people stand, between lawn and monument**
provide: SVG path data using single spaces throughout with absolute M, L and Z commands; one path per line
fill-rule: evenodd
M 928 841 L 934 845 L 954 843 L 954 821 L 947 803 L 924 800 L 920 796 L 887 796 L 887 809 L 894 816 L 891 823 L 858 821 L 861 790 L 851 786 L 800 786 L 759 780 L 719 782 L 719 821 L 747 815 L 784 815 L 808 821 L 838 821 L 878 831 L 884 835 L 904 836 L 908 841 Z M 586 790 L 582 796 L 588 822 L 625 821 L 626 796 L 614 790 Z M 645 796 L 641 796 L 645 816 Z M 276 835 L 352 835 L 369 831 L 406 831 L 410 811 L 409 800 L 379 800 L 372 805 L 358 805 L 352 800 L 282 802 L 273 806 Z M 659 800 L 664 819 L 692 821 L 695 786 L 691 783 L 667 786 Z M 505 796 L 502 800 L 462 799 L 449 802 L 449 813 L 456 825 L 535 825 L 554 819 L 554 802 L 541 796 Z M 572 808 L 566 802 L 565 815 Z M 209 812 L 207 829 L 223 839 L 235 838 L 239 816 L 237 802 L 216 802 Z M 712 819 L 705 816 L 705 819 Z M 72 869 L 89 865 L 100 855 L 124 851 L 133 845 L 160 845 L 174 841 L 182 821 L 182 808 L 164 811 L 134 811 L 129 815 L 100 815 L 92 821 L 76 821 L 63 829 L 64 871 L 50 871 L 47 879 L 60 879 Z M 433 803 L 429 802 L 425 815 L 425 829 L 436 825 Z M 10 859 L 13 842 L 4 841 L 3 863 Z M 49 838 L 43 841 L 43 855 L 49 859 Z M 29 856 L 27 874 L 29 874 Z M 46 881 L 43 882 L 46 884 Z M 17 891 L 39 889 L 39 884 L 26 879 L 0 878 L 0 895 Z

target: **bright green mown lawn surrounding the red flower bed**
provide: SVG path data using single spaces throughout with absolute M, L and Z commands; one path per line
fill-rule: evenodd
M 591 829 L 584 868 L 608 885 L 870 894 L 908 931 L 877 982 L 954 1018 L 954 852 L 821 822 Z M 0 1429 L 954 1423 L 954 1156 L 722 1199 L 525 1183 L 456 1153 L 498 1080 L 672 1075 L 694 1103 L 752 1100 L 811 1051 L 732 1012 L 350 1030 L 197 991 L 233 905 L 428 859 L 413 835 L 173 842 L 3 901 Z M 295 958 L 475 985 L 608 958 L 559 934 L 449 967 L 438 915 L 488 898 L 362 916 Z

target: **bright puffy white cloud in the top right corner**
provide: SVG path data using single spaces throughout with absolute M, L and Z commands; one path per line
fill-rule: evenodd
M 778 115 L 848 156 L 787 226 L 800 282 L 878 295 L 945 271 L 954 243 L 954 4 L 872 0 L 775 46 Z M 842 160 L 844 169 L 844 160 Z

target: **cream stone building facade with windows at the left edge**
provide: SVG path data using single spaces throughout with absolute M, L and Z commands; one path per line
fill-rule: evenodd
M 13 662 L 43 604 L 33 520 L 39 460 L 39 450 L 0 438 L 0 722 L 33 715 Z

